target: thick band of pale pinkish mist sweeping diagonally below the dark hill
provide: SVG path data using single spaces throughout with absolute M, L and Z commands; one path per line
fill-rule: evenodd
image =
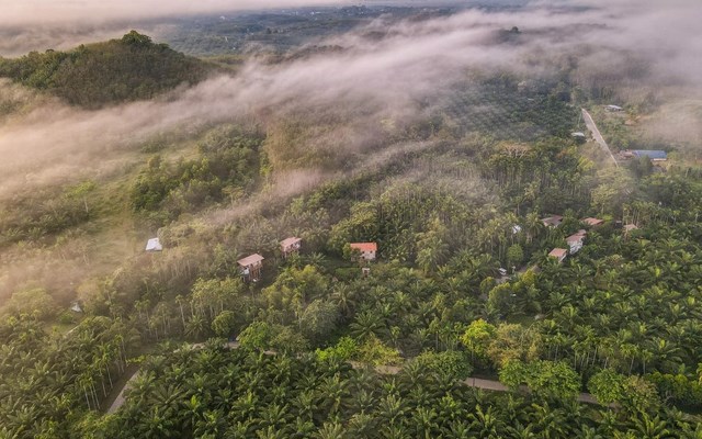
M 204 2 L 207 8 L 222 4 Z M 409 116 L 417 111 L 418 101 L 465 79 L 468 70 L 536 76 L 548 72 L 561 57 L 573 56 L 582 81 L 605 77 L 632 88 L 664 80 L 699 85 L 695 72 L 701 71 L 702 47 L 699 38 L 682 35 L 694 31 L 700 5 L 679 1 L 659 12 L 653 3 L 641 8 L 633 2 L 612 8 L 599 7 L 597 1 L 585 4 L 588 8 L 575 10 L 542 4 L 501 12 L 468 10 L 400 23 L 382 18 L 319 42 L 342 47 L 340 53 L 273 66 L 251 60 L 236 77 L 213 78 L 167 100 L 98 112 L 60 105 L 37 110 L 24 122 L 0 127 L 0 154 L 5 157 L 0 164 L 0 187 L 10 189 L 27 179 L 49 182 L 60 175 L 102 169 L 106 158 L 116 160 L 134 145 L 134 138 L 183 125 L 261 112 L 276 117 L 301 109 L 348 111 L 369 120 Z M 109 11 L 113 7 L 95 8 Z M 520 44 L 495 43 L 496 31 L 514 25 L 522 31 Z M 655 32 L 660 26 L 669 33 Z M 377 38 L 377 33 L 384 37 Z M 639 67 L 646 71 L 639 75 Z M 360 132 L 363 124 L 349 126 Z M 354 144 L 352 135 L 344 138 Z M 370 142 L 362 133 L 359 138 L 363 140 L 356 145 Z

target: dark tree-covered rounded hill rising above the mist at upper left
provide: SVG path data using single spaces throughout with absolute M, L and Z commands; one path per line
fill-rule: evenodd
M 136 31 L 69 52 L 0 58 L 0 77 L 86 109 L 151 99 L 182 83 L 196 83 L 208 70 L 199 59 L 152 43 Z

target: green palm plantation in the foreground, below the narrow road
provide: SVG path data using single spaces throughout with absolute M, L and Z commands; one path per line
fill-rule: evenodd
M 669 412 L 616 417 L 558 399 L 486 394 L 422 360 L 380 375 L 348 363 L 216 345 L 150 359 L 93 438 L 677 437 L 700 427 Z M 692 437 L 692 436 L 691 436 Z

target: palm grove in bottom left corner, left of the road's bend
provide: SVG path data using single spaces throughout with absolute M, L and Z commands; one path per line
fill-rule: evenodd
M 0 435 L 69 438 L 124 373 L 138 333 L 95 317 L 67 335 L 47 334 L 24 316 L 3 319 L 0 340 Z

